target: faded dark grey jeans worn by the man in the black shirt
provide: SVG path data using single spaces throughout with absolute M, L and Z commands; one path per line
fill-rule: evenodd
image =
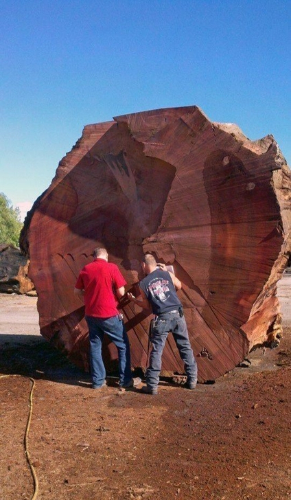
M 181 359 L 185 363 L 187 382 L 197 382 L 197 364 L 189 341 L 185 317 L 180 317 L 178 312 L 165 312 L 156 317 L 152 330 L 152 351 L 146 372 L 146 383 L 150 389 L 156 389 L 159 384 L 163 348 L 169 332 L 172 332 Z

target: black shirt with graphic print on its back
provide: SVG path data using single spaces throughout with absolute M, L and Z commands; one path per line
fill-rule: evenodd
M 152 305 L 154 315 L 182 307 L 170 273 L 167 271 L 155 269 L 139 282 L 139 286 Z

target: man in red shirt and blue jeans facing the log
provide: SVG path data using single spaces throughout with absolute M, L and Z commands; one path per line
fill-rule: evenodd
M 102 359 L 102 341 L 106 333 L 118 351 L 119 385 L 137 386 L 141 378 L 132 378 L 128 335 L 117 310 L 117 297 L 124 293 L 126 281 L 117 265 L 108 262 L 104 248 L 96 248 L 93 262 L 86 264 L 75 284 L 74 292 L 84 297 L 85 318 L 89 327 L 90 361 L 93 389 L 106 385 L 106 370 Z

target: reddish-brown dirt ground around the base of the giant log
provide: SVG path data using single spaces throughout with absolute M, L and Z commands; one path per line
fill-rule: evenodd
M 277 348 L 194 391 L 162 380 L 158 396 L 120 392 L 117 378 L 91 389 L 40 337 L 36 298 L 0 295 L 0 499 L 289 499 L 291 275 L 284 280 Z

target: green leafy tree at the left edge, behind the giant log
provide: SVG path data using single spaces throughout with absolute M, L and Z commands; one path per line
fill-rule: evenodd
M 7 196 L 0 193 L 0 243 L 19 247 L 19 234 L 22 227 L 19 208 L 12 207 Z

